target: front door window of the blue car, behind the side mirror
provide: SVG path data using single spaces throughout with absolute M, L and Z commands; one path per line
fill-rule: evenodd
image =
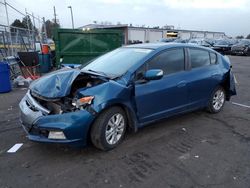
M 184 70 L 184 49 L 172 49 L 162 52 L 148 62 L 147 69 L 162 69 L 164 75 Z

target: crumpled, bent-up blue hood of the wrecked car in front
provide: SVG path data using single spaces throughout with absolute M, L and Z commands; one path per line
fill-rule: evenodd
M 79 69 L 60 69 L 32 82 L 30 90 L 45 98 L 60 98 L 70 93 L 71 85 L 81 73 Z

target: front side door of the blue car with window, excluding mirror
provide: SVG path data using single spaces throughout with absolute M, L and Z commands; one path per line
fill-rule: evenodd
M 188 103 L 187 72 L 183 48 L 164 51 L 136 73 L 135 102 L 140 122 L 152 121 L 185 109 Z M 146 70 L 162 69 L 160 80 L 143 81 Z

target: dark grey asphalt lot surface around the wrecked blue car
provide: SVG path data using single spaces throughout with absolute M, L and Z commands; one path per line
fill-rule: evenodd
M 231 102 L 250 106 L 250 57 L 230 57 L 238 80 Z M 19 124 L 26 89 L 0 94 L 0 187 L 249 187 L 250 108 L 227 102 L 129 133 L 116 149 L 29 141 Z M 16 153 L 7 150 L 16 143 Z

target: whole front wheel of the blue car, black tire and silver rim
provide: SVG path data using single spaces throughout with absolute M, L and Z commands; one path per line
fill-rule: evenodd
M 111 107 L 102 112 L 91 127 L 90 137 L 93 145 L 108 151 L 119 145 L 125 135 L 127 117 L 120 107 Z

